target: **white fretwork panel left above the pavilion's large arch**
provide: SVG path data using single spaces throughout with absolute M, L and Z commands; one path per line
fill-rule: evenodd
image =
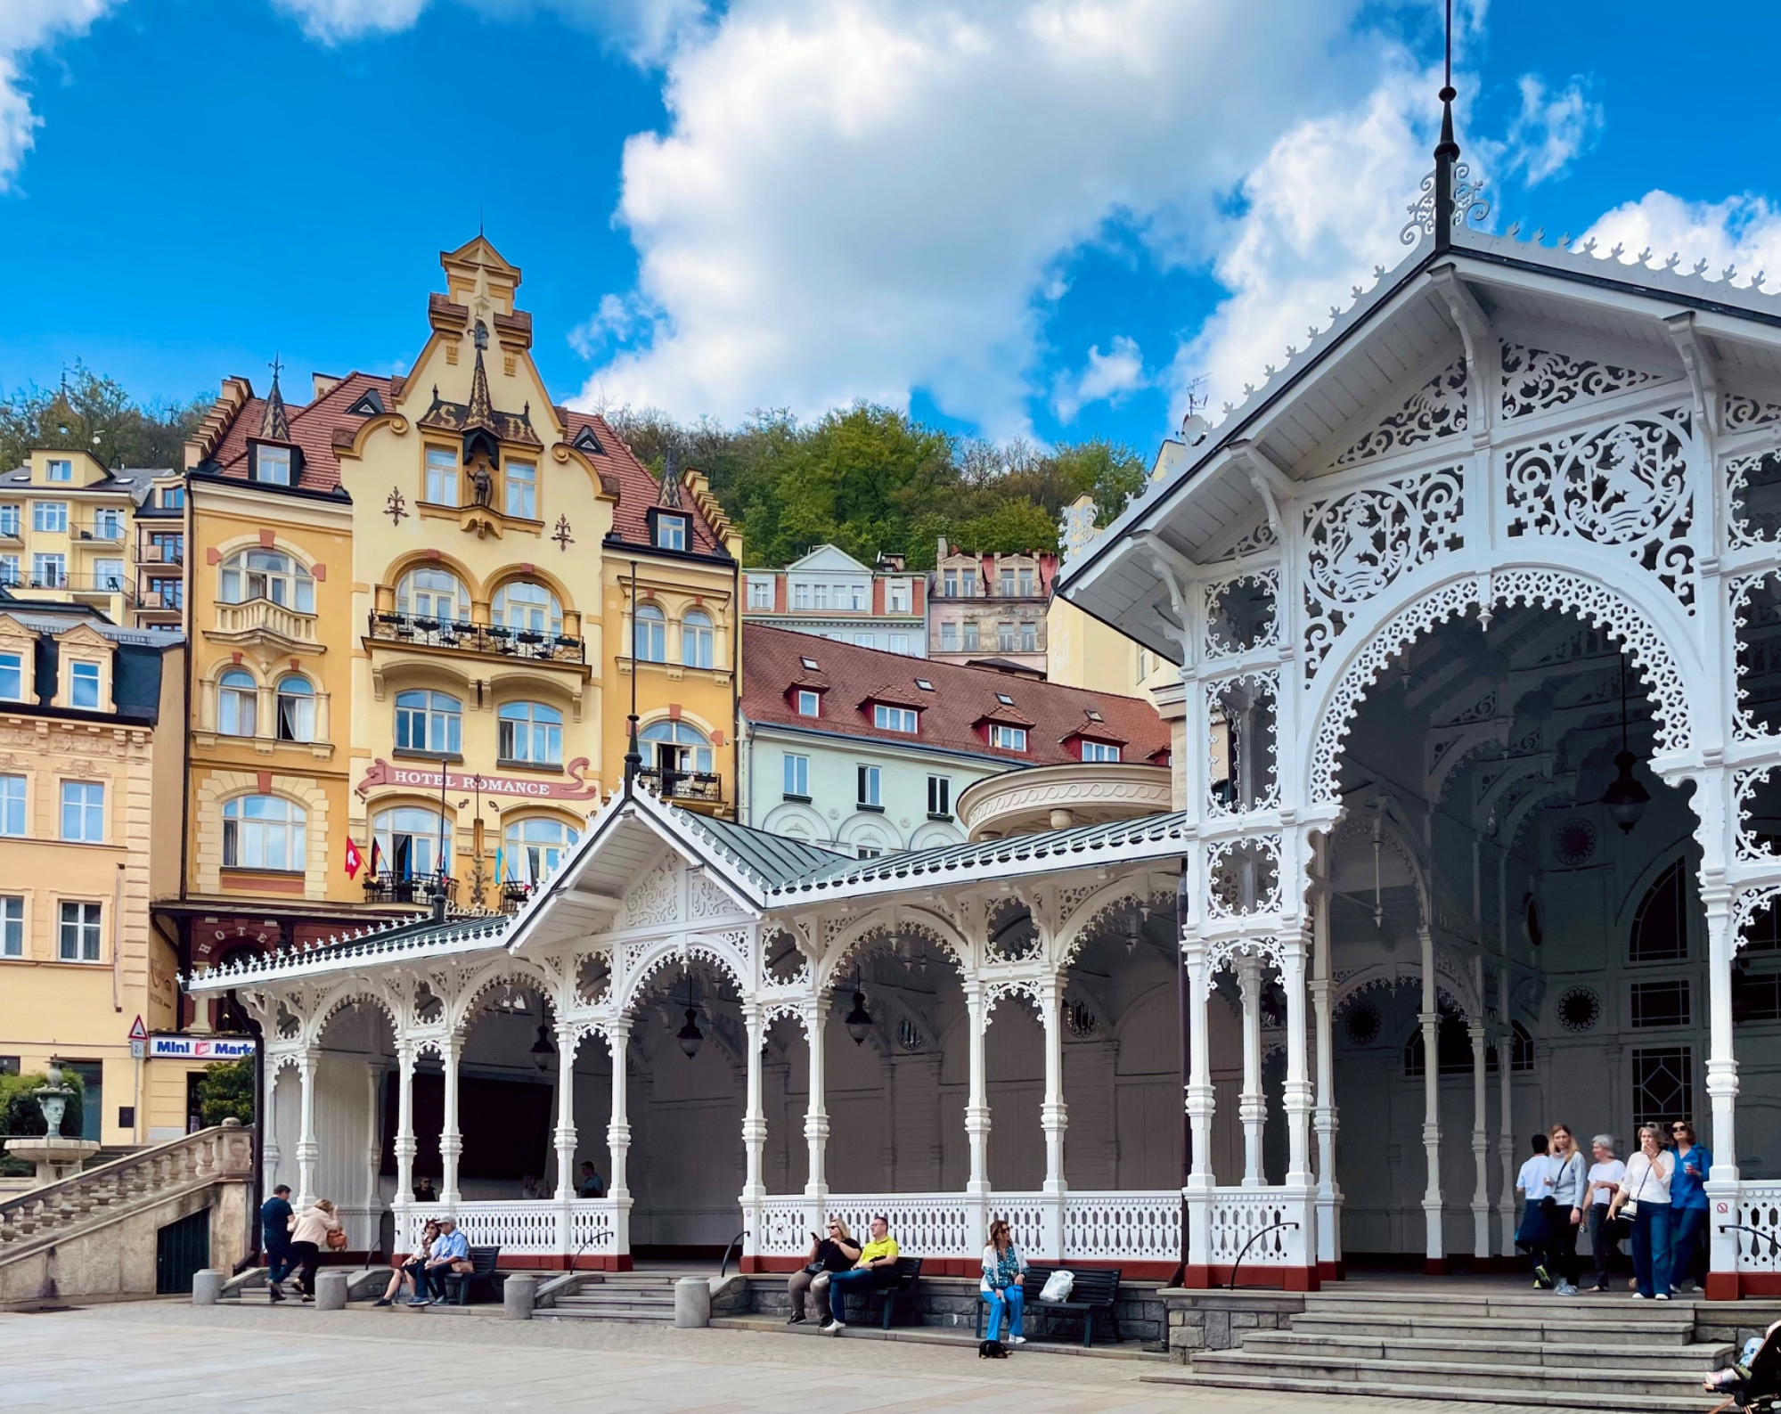
M 1354 609 L 1400 575 L 1464 543 L 1464 474 L 1443 467 L 1305 506 L 1305 682 Z

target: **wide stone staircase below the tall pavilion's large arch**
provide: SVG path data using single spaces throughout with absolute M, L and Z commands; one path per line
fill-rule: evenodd
M 1186 1373 L 1145 1380 L 1282 1394 L 1366 1394 L 1703 1414 L 1701 1377 L 1731 1345 L 1696 1341 L 1694 1302 L 1630 1293 L 1325 1291 L 1289 1330 L 1254 1330 L 1232 1350 L 1193 1352 Z

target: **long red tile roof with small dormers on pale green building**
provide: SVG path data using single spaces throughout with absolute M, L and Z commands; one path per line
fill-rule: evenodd
M 816 659 L 828 687 L 823 716 L 805 718 L 793 711 L 787 693 L 793 684 L 810 682 L 801 659 Z M 1029 682 L 988 668 L 956 662 L 931 662 L 923 657 L 857 648 L 814 634 L 773 629 L 743 622 L 743 711 L 750 721 L 780 727 L 814 727 L 874 741 L 903 741 L 907 732 L 873 727 L 871 702 L 908 702 L 921 707 L 921 725 L 914 741 L 953 752 L 1001 757 L 1012 764 L 1056 766 L 1081 760 L 1081 752 L 1065 746 L 1079 735 L 1124 746 L 1126 760 L 1151 760 L 1168 752 L 1168 725 L 1143 698 L 1092 693 L 1056 682 Z M 917 679 L 933 684 L 923 691 Z M 894 691 L 896 696 L 887 696 Z M 1013 707 L 997 700 L 1013 698 Z M 1099 712 L 1092 721 L 1088 712 Z M 1026 752 L 990 746 L 978 723 L 985 719 L 1031 723 Z M 1104 730 L 1095 730 L 1104 728 Z

